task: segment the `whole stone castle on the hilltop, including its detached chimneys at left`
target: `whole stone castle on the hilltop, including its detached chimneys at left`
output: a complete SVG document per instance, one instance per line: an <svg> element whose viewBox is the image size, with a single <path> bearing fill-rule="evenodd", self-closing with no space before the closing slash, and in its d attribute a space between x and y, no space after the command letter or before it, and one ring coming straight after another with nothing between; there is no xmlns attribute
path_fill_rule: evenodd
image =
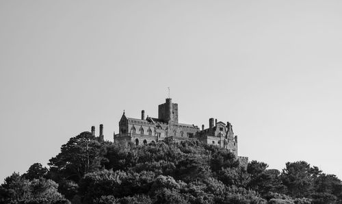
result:
<svg viewBox="0 0 342 204"><path fill-rule="evenodd" d="M119 122L119 133L114 133L114 142L133 142L140 145L160 140L196 140L228 149L239 158L242 166L248 164L248 157L239 157L237 154L237 136L233 133L231 123L218 122L217 119L214 122L213 118L209 118L209 128L205 129L205 125L202 125L200 129L195 125L179 123L178 118L178 104L172 103L170 98L158 106L158 118L145 117L144 110L140 119L128 118L123 113ZM98 139L103 140L101 133Z"/></svg>

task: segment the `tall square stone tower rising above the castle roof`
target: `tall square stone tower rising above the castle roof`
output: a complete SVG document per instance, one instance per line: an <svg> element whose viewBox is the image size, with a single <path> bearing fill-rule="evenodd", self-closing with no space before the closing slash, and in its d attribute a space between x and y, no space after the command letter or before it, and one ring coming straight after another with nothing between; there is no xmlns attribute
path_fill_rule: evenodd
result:
<svg viewBox="0 0 342 204"><path fill-rule="evenodd" d="M166 99L166 103L158 106L158 118L166 123L178 123L178 104Z"/></svg>

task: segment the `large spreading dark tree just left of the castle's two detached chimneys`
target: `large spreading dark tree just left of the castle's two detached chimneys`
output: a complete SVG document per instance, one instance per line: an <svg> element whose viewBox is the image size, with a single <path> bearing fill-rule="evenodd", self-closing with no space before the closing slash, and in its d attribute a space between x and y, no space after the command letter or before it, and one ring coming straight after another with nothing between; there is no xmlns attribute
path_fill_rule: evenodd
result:
<svg viewBox="0 0 342 204"><path fill-rule="evenodd" d="M85 131L63 144L61 152L49 160L49 166L60 172L62 178L78 182L86 173L101 168L104 155L105 148L92 133Z"/></svg>

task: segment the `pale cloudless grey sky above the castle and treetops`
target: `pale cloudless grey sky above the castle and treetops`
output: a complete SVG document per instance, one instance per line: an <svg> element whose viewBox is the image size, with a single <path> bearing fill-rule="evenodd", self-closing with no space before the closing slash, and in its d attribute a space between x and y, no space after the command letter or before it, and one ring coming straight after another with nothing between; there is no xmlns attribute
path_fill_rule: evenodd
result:
<svg viewBox="0 0 342 204"><path fill-rule="evenodd" d="M342 178L342 1L0 1L0 183L69 138L157 116L233 124L239 155Z"/></svg>

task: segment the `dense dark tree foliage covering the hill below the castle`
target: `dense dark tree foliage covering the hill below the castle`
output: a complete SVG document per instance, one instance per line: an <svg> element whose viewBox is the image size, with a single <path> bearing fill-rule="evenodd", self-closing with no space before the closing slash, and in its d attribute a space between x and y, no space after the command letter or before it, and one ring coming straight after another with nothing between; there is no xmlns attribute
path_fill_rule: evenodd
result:
<svg viewBox="0 0 342 204"><path fill-rule="evenodd" d="M144 146L70 138L50 168L0 186L0 203L342 203L342 183L306 162L279 170L200 142Z"/></svg>

